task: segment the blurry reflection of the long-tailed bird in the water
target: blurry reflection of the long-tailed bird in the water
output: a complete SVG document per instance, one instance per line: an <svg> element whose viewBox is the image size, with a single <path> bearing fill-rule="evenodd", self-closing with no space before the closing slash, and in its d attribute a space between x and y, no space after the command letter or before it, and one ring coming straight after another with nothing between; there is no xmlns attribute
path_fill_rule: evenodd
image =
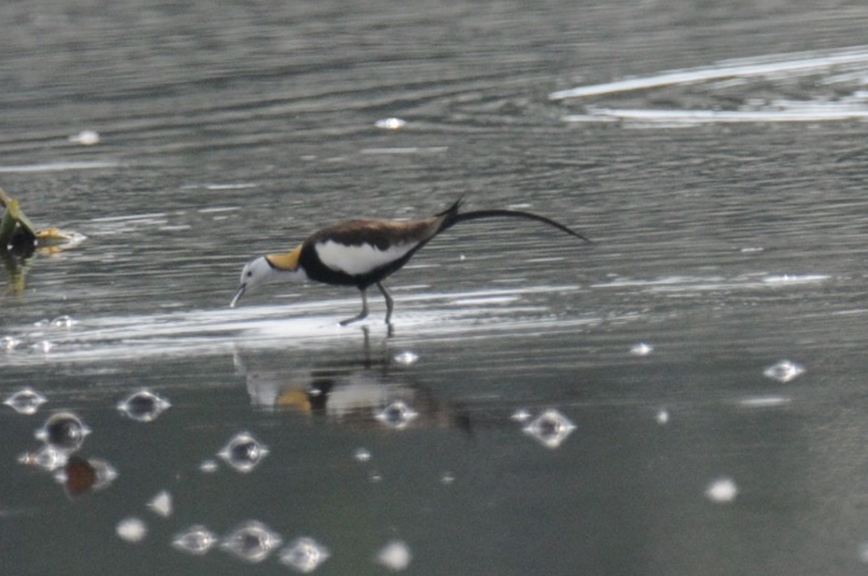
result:
<svg viewBox="0 0 868 576"><path fill-rule="evenodd" d="M254 406L291 409L329 422L391 429L454 427L470 429L464 409L437 398L412 381L404 363L384 344L373 357L365 330L360 355L282 366L285 357L236 351L235 365L247 381Z"/></svg>

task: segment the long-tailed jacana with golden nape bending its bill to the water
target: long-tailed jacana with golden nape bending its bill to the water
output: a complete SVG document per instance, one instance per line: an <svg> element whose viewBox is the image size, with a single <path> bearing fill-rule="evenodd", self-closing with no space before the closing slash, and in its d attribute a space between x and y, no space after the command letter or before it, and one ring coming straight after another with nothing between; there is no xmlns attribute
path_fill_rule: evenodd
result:
<svg viewBox="0 0 868 576"><path fill-rule="evenodd" d="M356 219L314 232L290 252L253 259L241 271L241 283L230 306L254 286L273 282L313 280L324 284L355 286L362 292L362 311L341 325L368 315L367 289L377 285L385 298L385 323L390 324L394 303L383 279L398 272L424 245L459 222L483 218L522 218L554 226L590 242L579 232L538 214L519 210L473 210L459 213L463 199L441 213L417 220Z"/></svg>

